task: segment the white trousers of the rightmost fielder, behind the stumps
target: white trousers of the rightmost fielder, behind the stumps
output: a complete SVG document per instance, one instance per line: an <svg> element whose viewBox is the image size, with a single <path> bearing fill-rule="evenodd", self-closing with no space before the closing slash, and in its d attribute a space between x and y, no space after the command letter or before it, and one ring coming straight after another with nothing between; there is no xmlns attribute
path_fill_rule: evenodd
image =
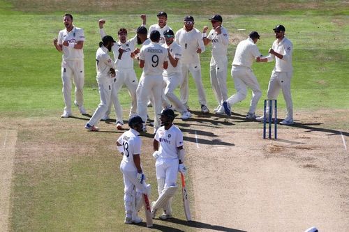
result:
<svg viewBox="0 0 349 232"><path fill-rule="evenodd" d="M283 91L283 99L286 102L286 121L293 120L293 104L291 98L292 74L292 72L276 72L273 70L267 91L268 99L277 99L280 90ZM269 102L267 102L267 115L269 115Z"/></svg>

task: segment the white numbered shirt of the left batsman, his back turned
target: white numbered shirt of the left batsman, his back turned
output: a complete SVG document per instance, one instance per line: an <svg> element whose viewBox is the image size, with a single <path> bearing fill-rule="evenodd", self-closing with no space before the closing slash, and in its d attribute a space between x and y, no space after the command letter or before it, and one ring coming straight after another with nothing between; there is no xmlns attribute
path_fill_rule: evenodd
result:
<svg viewBox="0 0 349 232"><path fill-rule="evenodd" d="M136 130L132 128L124 134L121 134L117 141L124 146L124 155L121 160L121 166L128 171L137 171L135 162L133 162L133 155L140 155L140 148L142 146L142 140L139 137Z"/></svg>

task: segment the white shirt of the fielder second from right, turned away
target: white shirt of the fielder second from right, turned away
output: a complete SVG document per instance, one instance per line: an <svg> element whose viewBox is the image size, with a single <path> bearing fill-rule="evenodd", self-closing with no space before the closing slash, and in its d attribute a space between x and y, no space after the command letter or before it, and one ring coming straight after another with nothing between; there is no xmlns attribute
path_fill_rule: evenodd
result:
<svg viewBox="0 0 349 232"><path fill-rule="evenodd" d="M246 40L239 42L237 45L232 65L251 68L255 61L255 57L257 56L262 56L257 45L255 45L251 38L247 38Z"/></svg>

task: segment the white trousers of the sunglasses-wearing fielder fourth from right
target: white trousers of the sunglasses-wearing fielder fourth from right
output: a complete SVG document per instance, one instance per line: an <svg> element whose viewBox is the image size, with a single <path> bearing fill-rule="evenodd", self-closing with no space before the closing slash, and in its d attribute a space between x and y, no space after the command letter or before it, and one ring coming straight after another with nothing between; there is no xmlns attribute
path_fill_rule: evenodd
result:
<svg viewBox="0 0 349 232"><path fill-rule="evenodd" d="M189 98L189 72L191 72L191 75L193 76L195 80L196 88L198 89L198 95L199 95L199 103L200 105L207 105L206 102L206 95L205 95L205 89L202 85L202 77L201 77L201 65L200 63L194 63L194 64L181 64L181 74L183 76L181 86L180 86L180 93L181 93L181 102L184 105L188 105L188 98Z"/></svg>

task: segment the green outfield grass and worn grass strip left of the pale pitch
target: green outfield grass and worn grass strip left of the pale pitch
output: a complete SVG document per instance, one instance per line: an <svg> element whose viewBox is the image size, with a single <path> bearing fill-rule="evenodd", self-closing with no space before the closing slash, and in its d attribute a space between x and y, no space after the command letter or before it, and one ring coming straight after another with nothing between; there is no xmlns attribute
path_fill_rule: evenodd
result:
<svg viewBox="0 0 349 232"><path fill-rule="evenodd" d="M86 121L67 120L64 127L59 116L64 108L61 95L61 54L53 38L64 29L62 15L70 12L76 26L82 27L84 43L87 111L92 113L99 102L96 84L95 52L100 41L98 19L107 20L105 31L116 36L126 27L129 37L140 24L140 13L148 14L147 26L156 23L159 10L168 12L168 24L180 29L186 14L195 17L195 26L209 25L214 13L223 15L223 25L230 32L228 55L232 62L239 40L252 30L261 39L262 54L272 45L276 24L283 24L286 36L294 45L292 79L294 111L349 109L349 4L345 1L268 1L242 4L240 1L127 1L124 7L112 1L87 5L84 1L3 1L0 0L0 119L18 128L15 170L11 192L10 231L140 231L144 227L124 225L123 183L119 171L121 157L114 141L119 133L83 131ZM101 3L110 4L107 10ZM69 8L66 8L69 6ZM147 9L144 10L143 9ZM154 10L149 10L154 9ZM246 29L240 31L238 29ZM209 108L216 100L209 84L210 47L202 54L202 79ZM230 66L230 65L229 65ZM255 63L253 70L266 98L267 84L274 63ZM230 67L228 67L228 74ZM140 76L141 70L135 64ZM199 109L193 79L190 82L190 106ZM228 75L228 93L235 93ZM129 97L125 88L119 95L124 109ZM245 114L248 98L234 111ZM285 109L279 96L279 111ZM258 112L262 111L262 101ZM77 113L77 111L75 111ZM295 118L297 120L297 118ZM22 121L24 121L22 123ZM342 125L348 130L349 125ZM345 128L343 128L345 127ZM54 130L52 130L54 128ZM57 149L50 149L58 147ZM35 150L34 148L38 148ZM65 149L66 148L66 149ZM144 144L144 165L156 192L151 147ZM190 180L188 180L191 186ZM155 194L156 196L156 194ZM174 210L184 219L177 194ZM195 215L195 212L193 212ZM155 222L158 231L193 231L185 222Z"/></svg>

